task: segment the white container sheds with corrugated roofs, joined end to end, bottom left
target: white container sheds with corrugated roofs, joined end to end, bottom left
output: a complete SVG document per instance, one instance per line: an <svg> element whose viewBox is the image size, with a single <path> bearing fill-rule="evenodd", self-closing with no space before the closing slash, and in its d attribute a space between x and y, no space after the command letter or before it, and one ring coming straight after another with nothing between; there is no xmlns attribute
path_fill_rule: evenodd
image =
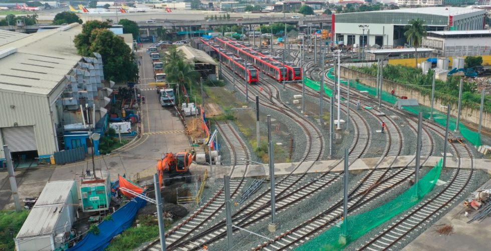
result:
<svg viewBox="0 0 491 251"><path fill-rule="evenodd" d="M77 182L48 182L15 238L16 250L66 248L79 204Z"/></svg>

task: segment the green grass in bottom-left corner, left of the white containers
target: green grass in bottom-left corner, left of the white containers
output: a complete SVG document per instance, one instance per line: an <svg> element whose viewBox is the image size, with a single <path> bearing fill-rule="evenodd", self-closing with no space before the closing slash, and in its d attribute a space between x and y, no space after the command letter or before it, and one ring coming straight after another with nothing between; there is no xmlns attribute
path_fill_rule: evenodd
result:
<svg viewBox="0 0 491 251"><path fill-rule="evenodd" d="M14 250L14 238L26 221L28 210L15 212L10 210L0 211L0 250Z"/></svg>

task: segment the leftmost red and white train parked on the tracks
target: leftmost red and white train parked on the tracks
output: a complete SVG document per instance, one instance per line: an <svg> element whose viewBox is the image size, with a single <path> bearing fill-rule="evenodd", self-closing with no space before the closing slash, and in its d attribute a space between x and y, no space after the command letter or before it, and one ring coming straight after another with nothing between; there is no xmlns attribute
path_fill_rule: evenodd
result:
<svg viewBox="0 0 491 251"><path fill-rule="evenodd" d="M243 79L246 79L248 83L257 83L259 81L258 69L253 67L251 63L248 63L246 65L242 58L234 57L233 53L227 52L224 49L221 49L219 46L216 46L212 42L203 38L199 38L199 40L201 40L201 42L216 51L216 53L219 55L219 58L221 57L221 62L223 62L233 72L235 72L235 74L238 74Z"/></svg>

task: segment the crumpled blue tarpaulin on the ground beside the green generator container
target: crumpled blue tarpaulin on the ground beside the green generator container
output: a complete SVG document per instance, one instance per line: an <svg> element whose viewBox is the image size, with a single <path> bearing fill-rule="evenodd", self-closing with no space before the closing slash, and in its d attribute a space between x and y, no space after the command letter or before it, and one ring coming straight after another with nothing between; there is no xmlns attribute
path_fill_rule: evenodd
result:
<svg viewBox="0 0 491 251"><path fill-rule="evenodd" d="M69 251L103 251L111 239L131 226L138 209L146 205L146 201L136 197L112 214L112 219L103 220L99 224L99 235L87 233L85 237L75 244Z"/></svg>

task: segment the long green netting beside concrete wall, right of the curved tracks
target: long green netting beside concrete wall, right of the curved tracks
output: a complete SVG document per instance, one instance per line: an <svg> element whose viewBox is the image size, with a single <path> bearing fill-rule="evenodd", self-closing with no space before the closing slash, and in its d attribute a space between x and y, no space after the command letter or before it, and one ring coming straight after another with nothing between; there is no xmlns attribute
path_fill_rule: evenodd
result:
<svg viewBox="0 0 491 251"><path fill-rule="evenodd" d="M327 76L333 80L337 80L335 76L333 75L333 69L329 70L327 73ZM377 95L377 89L374 87L367 86L365 84L362 84L358 81L355 80L341 80L342 84L350 84L351 87L354 87L360 91L368 91L368 94L376 96ZM319 87L317 87L319 89ZM394 96L390 94L389 92L382 91L382 100L395 104L397 102L397 96ZM418 105L418 106L403 106L402 108L413 112L414 114L418 114L420 111L423 112L423 117L429 118L430 115L430 108L424 105ZM446 125L446 114L441 113L439 111L436 111L433 109L433 117L435 118L435 122L439 123L442 126ZM451 130L454 130L456 127L457 119L453 118L450 116L450 125L449 128ZM459 130L462 136L467 139L470 143L472 143L475 146L481 145L481 138L479 133L476 131L472 131L469 128L467 128L464 124L459 122Z"/></svg>

